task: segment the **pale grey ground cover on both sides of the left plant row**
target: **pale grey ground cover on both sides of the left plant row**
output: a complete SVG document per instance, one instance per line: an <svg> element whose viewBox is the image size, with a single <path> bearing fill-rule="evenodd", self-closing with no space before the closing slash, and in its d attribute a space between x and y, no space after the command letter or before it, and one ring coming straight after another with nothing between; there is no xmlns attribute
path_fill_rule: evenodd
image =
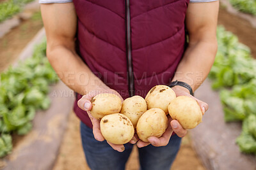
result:
<svg viewBox="0 0 256 170"><path fill-rule="evenodd" d="M25 60L31 56L35 45L41 43L44 36L45 32L42 29L28 43L18 60ZM19 67L18 62L13 66ZM50 91L48 96L51 99L51 107L36 112L33 129L26 136L21 138L14 135L14 148L10 155L1 159L1 169L51 169L54 165L74 95L62 82L52 85Z"/></svg>

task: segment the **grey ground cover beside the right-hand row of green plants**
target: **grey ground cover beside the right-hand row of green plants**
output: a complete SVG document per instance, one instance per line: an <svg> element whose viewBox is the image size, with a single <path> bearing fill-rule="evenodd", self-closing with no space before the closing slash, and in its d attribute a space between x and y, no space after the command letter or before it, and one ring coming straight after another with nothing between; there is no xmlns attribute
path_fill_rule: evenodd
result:
<svg viewBox="0 0 256 170"><path fill-rule="evenodd" d="M241 123L225 123L218 92L205 81L195 97L209 104L203 122L190 131L193 145L205 167L210 170L256 169L254 155L241 153L236 138L241 134Z"/></svg>

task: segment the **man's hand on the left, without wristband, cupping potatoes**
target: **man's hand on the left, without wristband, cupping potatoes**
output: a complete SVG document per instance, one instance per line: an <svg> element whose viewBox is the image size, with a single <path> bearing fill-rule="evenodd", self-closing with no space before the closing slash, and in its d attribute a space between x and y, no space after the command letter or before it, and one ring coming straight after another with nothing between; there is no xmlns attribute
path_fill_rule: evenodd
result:
<svg viewBox="0 0 256 170"><path fill-rule="evenodd" d="M92 113L90 113L90 110L92 110L92 103L91 103L91 99L92 97L96 96L97 94L102 94L102 93L110 93L110 94L116 94L118 97L120 97L120 99L122 101L124 101L124 99L120 96L120 94L118 94L118 92L116 92L113 89L97 89L97 90L92 90L90 91L88 94L84 95L78 102L78 106L79 108L81 108L84 111L87 111L89 118L92 121L92 125L93 125L93 135L94 138L97 141L104 141L104 137L102 136L101 132L100 132L100 120L97 120L96 118L92 117ZM130 141L130 143L134 144L136 143L137 139L136 137L133 137ZM114 149L117 150L118 152L123 152L124 151L124 145L115 145L113 143L108 142L108 144Z"/></svg>

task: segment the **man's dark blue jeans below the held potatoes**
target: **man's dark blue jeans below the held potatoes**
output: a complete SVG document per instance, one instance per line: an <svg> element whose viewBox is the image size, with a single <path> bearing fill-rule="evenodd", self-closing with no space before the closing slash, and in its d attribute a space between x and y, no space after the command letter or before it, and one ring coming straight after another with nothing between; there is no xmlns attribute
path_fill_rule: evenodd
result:
<svg viewBox="0 0 256 170"><path fill-rule="evenodd" d="M106 141L97 141L92 129L81 122L81 138L88 166L92 170L123 170L132 151L132 144L125 144L124 152L117 152ZM138 148L141 170L170 170L175 159L180 141L177 135L172 136L167 146L152 145Z"/></svg>

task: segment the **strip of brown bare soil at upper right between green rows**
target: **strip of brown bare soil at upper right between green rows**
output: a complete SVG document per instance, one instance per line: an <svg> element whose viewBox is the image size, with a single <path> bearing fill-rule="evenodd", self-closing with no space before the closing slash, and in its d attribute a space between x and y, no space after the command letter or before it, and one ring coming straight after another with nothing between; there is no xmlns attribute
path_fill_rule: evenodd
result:
<svg viewBox="0 0 256 170"><path fill-rule="evenodd" d="M218 25L224 25L228 31L236 34L241 43L251 48L252 55L256 59L256 29L253 29L250 22L228 13L221 7Z"/></svg>

